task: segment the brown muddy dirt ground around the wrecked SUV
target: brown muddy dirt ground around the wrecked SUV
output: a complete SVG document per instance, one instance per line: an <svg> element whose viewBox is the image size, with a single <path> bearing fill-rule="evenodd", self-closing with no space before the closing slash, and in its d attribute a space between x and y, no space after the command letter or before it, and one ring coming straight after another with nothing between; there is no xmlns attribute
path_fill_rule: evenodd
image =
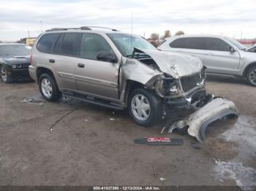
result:
<svg viewBox="0 0 256 191"><path fill-rule="evenodd" d="M208 78L208 92L230 98L241 116L213 125L201 149L178 133L165 136L182 146L135 145L162 126L141 128L126 112L80 101L46 102L34 82L1 82L0 185L255 185L256 88L240 81Z"/></svg>

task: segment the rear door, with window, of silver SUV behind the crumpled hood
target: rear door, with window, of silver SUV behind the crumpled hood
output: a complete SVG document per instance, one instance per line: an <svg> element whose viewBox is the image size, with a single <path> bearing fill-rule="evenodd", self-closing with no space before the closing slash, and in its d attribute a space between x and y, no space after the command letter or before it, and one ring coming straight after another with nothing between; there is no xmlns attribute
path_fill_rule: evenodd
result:
<svg viewBox="0 0 256 191"><path fill-rule="evenodd" d="M205 62L206 43L203 37L185 37L170 42L170 47L174 52L192 55Z"/></svg>

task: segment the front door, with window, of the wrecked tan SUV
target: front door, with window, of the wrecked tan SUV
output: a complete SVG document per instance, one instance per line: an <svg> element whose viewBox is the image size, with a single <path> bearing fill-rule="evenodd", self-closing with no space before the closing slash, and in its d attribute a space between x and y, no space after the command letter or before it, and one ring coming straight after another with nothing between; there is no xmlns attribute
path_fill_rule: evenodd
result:
<svg viewBox="0 0 256 191"><path fill-rule="evenodd" d="M82 93L118 99L119 63L97 61L101 51L113 52L99 34L84 33L80 40L80 58L75 63L75 82Z"/></svg>

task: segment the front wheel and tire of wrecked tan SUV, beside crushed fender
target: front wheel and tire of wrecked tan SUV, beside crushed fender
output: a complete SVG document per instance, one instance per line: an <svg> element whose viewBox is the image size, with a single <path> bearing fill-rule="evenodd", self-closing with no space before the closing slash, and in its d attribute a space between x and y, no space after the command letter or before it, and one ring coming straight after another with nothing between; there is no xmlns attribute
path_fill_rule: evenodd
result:
<svg viewBox="0 0 256 191"><path fill-rule="evenodd" d="M162 116L162 101L155 93L138 88L128 98L129 115L138 125L149 127Z"/></svg>

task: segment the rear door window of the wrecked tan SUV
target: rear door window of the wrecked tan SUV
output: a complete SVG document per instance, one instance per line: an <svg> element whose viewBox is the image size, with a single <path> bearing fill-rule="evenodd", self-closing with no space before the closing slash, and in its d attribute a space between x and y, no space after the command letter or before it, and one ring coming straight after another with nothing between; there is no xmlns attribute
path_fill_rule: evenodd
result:
<svg viewBox="0 0 256 191"><path fill-rule="evenodd" d="M61 45L61 54L63 55L78 55L76 41L77 33L66 33Z"/></svg>

